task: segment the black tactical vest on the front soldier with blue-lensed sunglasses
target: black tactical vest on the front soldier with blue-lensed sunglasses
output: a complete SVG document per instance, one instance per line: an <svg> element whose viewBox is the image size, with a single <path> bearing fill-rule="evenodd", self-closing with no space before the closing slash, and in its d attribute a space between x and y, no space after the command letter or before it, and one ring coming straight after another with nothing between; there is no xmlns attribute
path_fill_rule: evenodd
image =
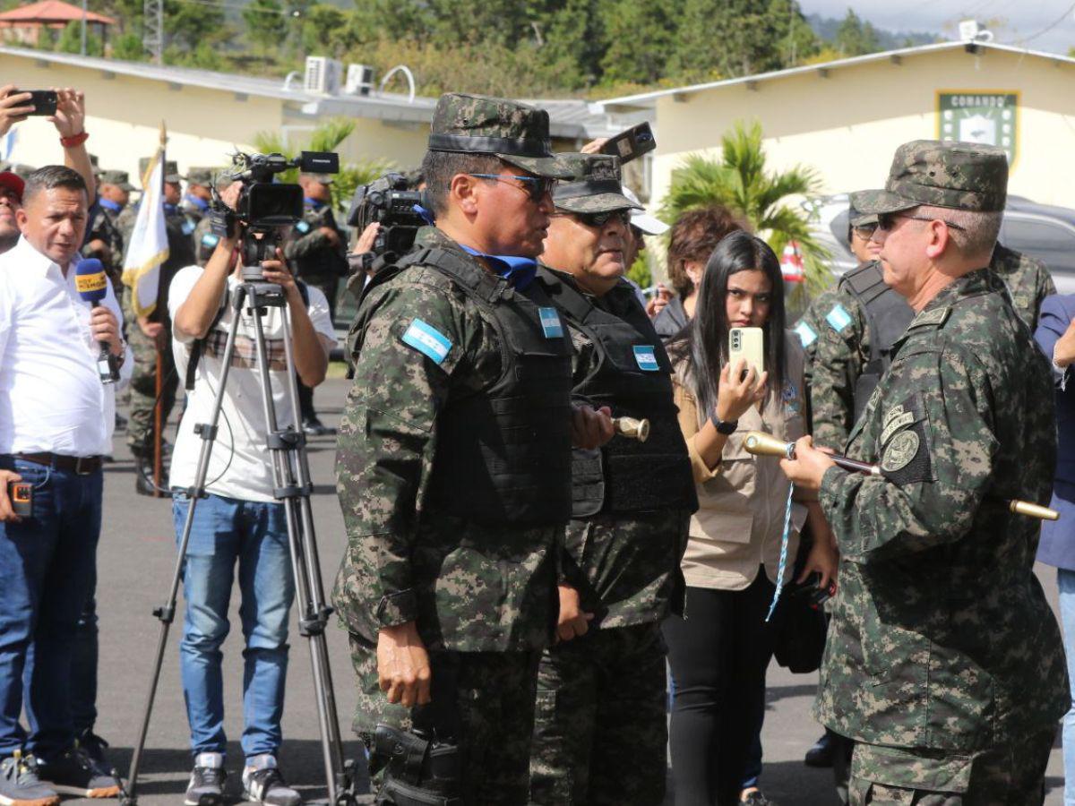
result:
<svg viewBox="0 0 1075 806"><path fill-rule="evenodd" d="M439 247L419 247L382 270L363 299L419 264L450 277L477 305L500 336L502 356L501 376L491 388L454 389L441 409L424 504L486 524L565 523L571 518L572 349L553 302L536 283L515 290L469 257Z"/></svg>

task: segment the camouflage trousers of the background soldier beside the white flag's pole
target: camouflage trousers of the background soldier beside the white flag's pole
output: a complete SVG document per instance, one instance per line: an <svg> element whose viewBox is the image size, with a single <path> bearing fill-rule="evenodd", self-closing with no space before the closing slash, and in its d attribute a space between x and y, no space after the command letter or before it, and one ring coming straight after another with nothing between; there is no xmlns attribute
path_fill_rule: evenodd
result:
<svg viewBox="0 0 1075 806"><path fill-rule="evenodd" d="M153 340L142 332L134 318L134 312L127 303L130 293L124 294L124 320L127 326L127 345L134 358L134 370L131 373L130 399L131 409L127 423L127 446L135 457L153 458L153 440L155 417L154 405L157 402L157 348ZM171 322L166 322L171 328ZM167 424L168 417L175 406L175 394L180 380L175 376L175 359L171 347L161 352L161 373L164 382L160 398L160 421Z"/></svg>

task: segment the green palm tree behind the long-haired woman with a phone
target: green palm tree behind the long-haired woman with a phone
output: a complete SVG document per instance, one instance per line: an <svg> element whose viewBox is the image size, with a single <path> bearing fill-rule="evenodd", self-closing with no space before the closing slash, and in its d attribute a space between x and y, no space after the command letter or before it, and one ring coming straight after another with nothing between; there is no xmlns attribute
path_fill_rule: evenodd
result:
<svg viewBox="0 0 1075 806"><path fill-rule="evenodd" d="M777 255L794 241L806 269L806 285L814 290L828 284L827 261L832 256L811 234L807 214L786 200L817 193L819 189L820 181L811 168L766 171L761 125L737 123L721 138L719 160L692 154L672 171L672 185L660 216L672 224L684 211L722 204L749 221Z"/></svg>

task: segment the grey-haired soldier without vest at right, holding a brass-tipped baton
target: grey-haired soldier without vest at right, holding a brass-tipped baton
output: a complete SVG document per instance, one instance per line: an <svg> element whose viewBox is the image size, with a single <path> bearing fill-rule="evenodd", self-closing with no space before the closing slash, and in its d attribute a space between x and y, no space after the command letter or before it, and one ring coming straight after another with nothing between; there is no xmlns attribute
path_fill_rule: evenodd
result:
<svg viewBox="0 0 1075 806"><path fill-rule="evenodd" d="M852 804L1041 804L1071 702L1040 524L1006 504L1048 501L1056 459L1048 362L988 268L1006 183L1000 148L914 141L856 200L915 311L847 444L882 475L806 438L782 462L841 552L815 713L858 743Z"/></svg>

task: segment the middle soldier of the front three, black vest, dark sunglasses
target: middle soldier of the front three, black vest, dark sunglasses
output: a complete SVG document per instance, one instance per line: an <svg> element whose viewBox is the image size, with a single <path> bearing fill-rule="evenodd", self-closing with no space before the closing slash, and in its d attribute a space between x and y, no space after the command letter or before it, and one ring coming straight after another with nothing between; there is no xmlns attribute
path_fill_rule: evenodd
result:
<svg viewBox="0 0 1075 806"><path fill-rule="evenodd" d="M543 256L562 271L543 265L539 278L575 347L574 394L615 416L647 418L650 433L644 443L617 436L601 450L575 450L560 643L539 668L530 798L657 806L668 767L660 622L683 611L679 562L698 500L671 363L624 279L630 212L640 207L622 195L615 157L562 159L573 175L554 191Z"/></svg>

